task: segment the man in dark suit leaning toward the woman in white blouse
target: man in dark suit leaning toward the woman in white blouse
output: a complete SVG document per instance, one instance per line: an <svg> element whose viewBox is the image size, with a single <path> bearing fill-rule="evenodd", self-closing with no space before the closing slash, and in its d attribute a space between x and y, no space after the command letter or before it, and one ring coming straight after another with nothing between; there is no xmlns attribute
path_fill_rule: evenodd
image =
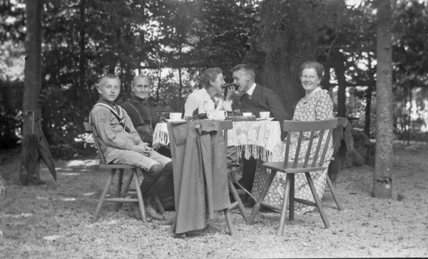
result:
<svg viewBox="0 0 428 259"><path fill-rule="evenodd" d="M240 64L232 69L233 83L239 86L238 92L244 93L239 100L242 112L253 112L255 117L260 118L260 112L270 112L270 117L277 121L290 120L280 100L272 90L255 83L254 69L250 65ZM244 159L243 177L238 181L245 189L253 189L256 162L254 157Z"/></svg>

